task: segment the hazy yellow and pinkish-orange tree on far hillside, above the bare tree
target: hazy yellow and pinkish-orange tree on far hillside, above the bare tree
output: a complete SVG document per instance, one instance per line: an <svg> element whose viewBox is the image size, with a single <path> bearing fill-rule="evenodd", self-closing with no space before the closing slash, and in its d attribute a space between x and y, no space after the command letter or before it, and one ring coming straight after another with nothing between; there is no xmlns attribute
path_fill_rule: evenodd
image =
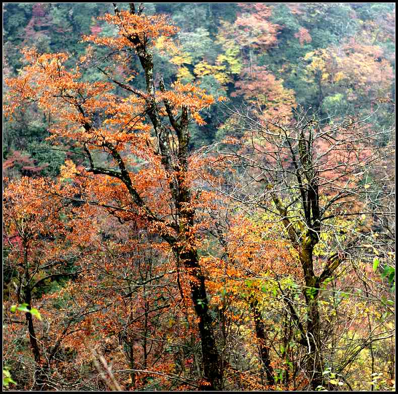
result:
<svg viewBox="0 0 398 394"><path fill-rule="evenodd" d="M339 48L308 52L304 59L311 61L307 81L318 86L318 108L325 113L371 110L376 99L389 96L392 68L379 46L351 39Z"/></svg>

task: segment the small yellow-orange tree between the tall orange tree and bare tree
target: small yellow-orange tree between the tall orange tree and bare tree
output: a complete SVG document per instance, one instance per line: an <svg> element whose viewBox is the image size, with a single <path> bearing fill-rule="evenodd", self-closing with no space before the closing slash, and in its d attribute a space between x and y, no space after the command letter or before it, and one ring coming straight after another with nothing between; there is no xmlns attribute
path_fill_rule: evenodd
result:
<svg viewBox="0 0 398 394"><path fill-rule="evenodd" d="M251 316L249 318L245 316L243 319L252 320L254 323L256 343L252 346L256 345L258 348L261 373L260 382L252 380L247 388L269 389L275 387L274 384L278 379L274 367L281 367L283 364L281 360L284 357L283 354L279 355L279 362L274 361L271 357L271 349L275 348L277 335L272 343L270 339L271 324L261 312L263 306L271 304L272 300L267 294L269 286L261 283L258 278L278 277L288 269L292 270L293 259L289 255L286 242L280 240L277 234L274 234L273 240L264 242L264 233L269 230L267 224L263 227L258 222L251 222L244 215L235 215L230 220L227 218L222 220L217 214L215 216L217 221L213 234L222 247L222 253L221 257L212 256L209 260L214 264L210 276L218 284L218 291L222 294L219 310L223 315L232 312L230 317L232 321L243 318L244 312L241 313L241 310L248 309L250 311ZM223 265L224 268L221 268ZM245 278L246 280L244 280ZM275 288L273 291L275 292ZM236 313L236 305L242 301L244 306L237 309L238 313ZM228 310L228 304L232 306L231 310ZM275 303L273 303L273 307L275 307ZM222 316L222 320L225 325L225 316ZM246 389L246 387L244 388Z"/></svg>

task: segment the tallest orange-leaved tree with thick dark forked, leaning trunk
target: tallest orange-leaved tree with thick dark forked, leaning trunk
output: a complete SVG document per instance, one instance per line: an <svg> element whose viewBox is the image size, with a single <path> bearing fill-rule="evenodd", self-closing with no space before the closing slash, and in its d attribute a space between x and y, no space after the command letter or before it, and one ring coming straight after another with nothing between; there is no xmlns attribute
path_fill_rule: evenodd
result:
<svg viewBox="0 0 398 394"><path fill-rule="evenodd" d="M95 177L87 179L81 195L92 191L96 200L90 203L105 205L122 221L149 226L169 245L177 267L190 275L190 298L202 340L203 387L217 389L222 376L197 255L188 155L189 124L203 124L200 111L214 99L192 84L177 82L167 90L156 73L151 48L160 37L177 31L165 17L145 16L142 8L130 4L129 11L115 6L114 15L103 19L115 27L117 36L92 35L84 40L110 49L113 65L126 66L137 56L145 75L144 90L118 80L115 67L98 65L104 81L87 83L81 80L80 66L67 70L68 54L25 50L29 64L19 77L7 80L7 113L37 102L56 119L50 129L53 138L71 139L85 152L87 173ZM85 60L92 61L81 59ZM114 93L116 88L123 96ZM106 154L109 164L97 164L99 152ZM151 197L155 191L161 193L156 200Z"/></svg>

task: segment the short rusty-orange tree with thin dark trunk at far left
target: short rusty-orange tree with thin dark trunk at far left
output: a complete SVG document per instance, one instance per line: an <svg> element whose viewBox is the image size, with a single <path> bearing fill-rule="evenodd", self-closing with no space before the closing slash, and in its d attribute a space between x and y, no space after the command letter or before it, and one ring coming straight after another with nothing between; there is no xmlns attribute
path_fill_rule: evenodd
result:
<svg viewBox="0 0 398 394"><path fill-rule="evenodd" d="M56 339L47 342L46 335L41 332L43 326L35 325L33 312L37 312L37 308L33 307L34 302L42 302L37 301L40 298L38 295L49 282L68 281L79 274L79 270L70 266L73 251L65 242L71 225L71 222L65 220L70 203L44 192L43 188L48 187L48 184L51 181L43 178L23 177L12 182L8 182L6 178L3 196L5 273L9 285L6 305L12 301L26 305L26 324L13 319L8 313L5 322L11 326L11 331L13 325L27 326L34 357L34 385L40 390L45 389L50 364L62 340L70 334L74 319L64 315L59 319L60 311L56 311L58 319L52 319L53 326L56 326L55 322L58 320L65 327L58 326L59 332L54 329ZM55 189L56 185L52 187ZM15 292L11 290L12 284ZM48 314L51 314L50 310L43 312L45 318Z"/></svg>

